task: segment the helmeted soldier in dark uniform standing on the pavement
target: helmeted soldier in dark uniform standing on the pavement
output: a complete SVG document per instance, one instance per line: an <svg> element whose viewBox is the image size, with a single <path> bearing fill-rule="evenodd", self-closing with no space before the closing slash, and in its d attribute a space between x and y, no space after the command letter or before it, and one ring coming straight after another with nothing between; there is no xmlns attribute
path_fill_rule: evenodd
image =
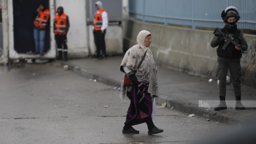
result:
<svg viewBox="0 0 256 144"><path fill-rule="evenodd" d="M222 47L226 43L226 40L223 39L223 35L215 34L215 37L211 41L211 46L217 48L218 55L218 66L217 66L217 77L219 79L219 98L221 103L214 108L215 111L222 109L227 109L226 107L226 75L228 69L230 71L232 84L234 87L234 96L236 96L236 109L245 109L244 105L241 103L241 65L240 58L242 57L242 51L247 50L247 42L245 41L244 34L240 29L237 28L236 23L240 19L238 9L236 7L227 7L223 10L221 17L223 18L224 23L226 24L221 31L223 33L232 34L234 41L238 43L240 48L232 45L230 43L226 46L226 49L223 50Z"/></svg>

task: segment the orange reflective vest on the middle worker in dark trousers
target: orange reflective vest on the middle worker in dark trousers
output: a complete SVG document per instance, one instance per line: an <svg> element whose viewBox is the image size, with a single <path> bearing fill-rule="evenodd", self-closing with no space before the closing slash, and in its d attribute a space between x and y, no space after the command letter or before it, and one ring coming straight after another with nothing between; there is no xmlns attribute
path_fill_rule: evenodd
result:
<svg viewBox="0 0 256 144"><path fill-rule="evenodd" d="M54 35L66 35L66 21L67 15L64 13L61 15L56 14L54 16Z"/></svg>

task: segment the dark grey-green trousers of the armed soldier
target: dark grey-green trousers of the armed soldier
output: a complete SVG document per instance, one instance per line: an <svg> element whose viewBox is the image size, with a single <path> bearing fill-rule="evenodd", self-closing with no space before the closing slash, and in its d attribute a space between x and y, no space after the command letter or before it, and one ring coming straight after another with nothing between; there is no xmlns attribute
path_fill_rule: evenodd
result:
<svg viewBox="0 0 256 144"><path fill-rule="evenodd" d="M234 96L241 96L241 65L240 62L218 62L217 77L219 78L219 96L226 96L226 75L228 69L234 87Z"/></svg>

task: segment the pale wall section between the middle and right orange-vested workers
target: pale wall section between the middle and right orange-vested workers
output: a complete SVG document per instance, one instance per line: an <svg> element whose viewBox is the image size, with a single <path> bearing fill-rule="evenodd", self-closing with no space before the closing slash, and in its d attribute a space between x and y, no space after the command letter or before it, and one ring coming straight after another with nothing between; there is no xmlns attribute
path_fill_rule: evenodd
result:
<svg viewBox="0 0 256 144"><path fill-rule="evenodd" d="M86 26L85 0L55 0L56 10L64 8L64 13L70 20L68 31L69 58L83 58L89 55L88 28Z"/></svg>

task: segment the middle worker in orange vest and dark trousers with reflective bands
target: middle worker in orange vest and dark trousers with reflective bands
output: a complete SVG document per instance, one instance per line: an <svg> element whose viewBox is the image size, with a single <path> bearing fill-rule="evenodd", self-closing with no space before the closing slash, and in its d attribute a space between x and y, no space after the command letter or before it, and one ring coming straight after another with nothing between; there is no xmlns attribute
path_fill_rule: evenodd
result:
<svg viewBox="0 0 256 144"><path fill-rule="evenodd" d="M58 14L54 16L54 35L56 44L58 47L58 60L62 60L62 52L63 52L63 60L68 60L68 46L67 46L67 33L70 27L70 21L68 20L68 16L64 14L63 7L58 7ZM63 48L62 48L63 45Z"/></svg>

